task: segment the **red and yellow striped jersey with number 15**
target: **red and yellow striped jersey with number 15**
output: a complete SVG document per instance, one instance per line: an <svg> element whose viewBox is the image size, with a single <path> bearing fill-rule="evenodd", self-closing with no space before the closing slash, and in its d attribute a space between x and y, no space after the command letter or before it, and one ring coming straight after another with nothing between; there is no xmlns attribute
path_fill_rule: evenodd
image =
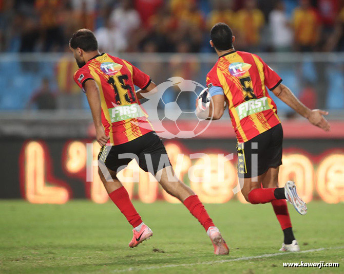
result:
<svg viewBox="0 0 344 274"><path fill-rule="evenodd" d="M89 79L99 87L102 124L109 143L126 143L153 131L134 87L145 89L151 81L148 75L125 60L102 53L74 74L81 88Z"/></svg>

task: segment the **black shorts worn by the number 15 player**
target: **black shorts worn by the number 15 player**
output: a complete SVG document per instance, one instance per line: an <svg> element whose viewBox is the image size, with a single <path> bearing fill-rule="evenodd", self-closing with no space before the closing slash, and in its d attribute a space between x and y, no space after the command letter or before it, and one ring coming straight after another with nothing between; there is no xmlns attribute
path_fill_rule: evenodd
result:
<svg viewBox="0 0 344 274"><path fill-rule="evenodd" d="M104 145L98 155L98 160L103 160L105 166L113 171L124 169L133 158L141 169L154 175L158 170L171 166L164 143L154 131L123 144Z"/></svg>

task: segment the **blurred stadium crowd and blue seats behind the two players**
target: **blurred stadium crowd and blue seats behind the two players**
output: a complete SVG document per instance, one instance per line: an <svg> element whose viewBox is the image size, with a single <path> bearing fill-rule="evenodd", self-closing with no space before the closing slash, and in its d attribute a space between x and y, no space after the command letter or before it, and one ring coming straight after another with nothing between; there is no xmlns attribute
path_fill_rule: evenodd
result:
<svg viewBox="0 0 344 274"><path fill-rule="evenodd" d="M79 28L156 83L179 76L204 84L215 54L183 53L214 52L217 22L232 27L237 50L266 52L307 106L344 108L344 0L0 0L0 111L88 109L68 48ZM194 108L194 100L185 104Z"/></svg>

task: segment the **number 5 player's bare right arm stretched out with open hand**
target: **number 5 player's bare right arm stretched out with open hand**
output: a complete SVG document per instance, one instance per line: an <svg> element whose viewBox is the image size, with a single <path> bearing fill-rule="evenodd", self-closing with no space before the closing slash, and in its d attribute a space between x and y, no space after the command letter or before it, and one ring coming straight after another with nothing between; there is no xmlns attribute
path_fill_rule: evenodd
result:
<svg viewBox="0 0 344 274"><path fill-rule="evenodd" d="M291 108L294 109L298 114L307 118L310 123L320 127L320 129L324 131L330 131L330 124L329 122L323 117L323 115L328 115L329 113L326 111L322 111L321 109L310 109L304 104L300 102L299 99L292 93L292 91L283 84L277 86L273 93L281 99L284 103L289 105Z"/></svg>

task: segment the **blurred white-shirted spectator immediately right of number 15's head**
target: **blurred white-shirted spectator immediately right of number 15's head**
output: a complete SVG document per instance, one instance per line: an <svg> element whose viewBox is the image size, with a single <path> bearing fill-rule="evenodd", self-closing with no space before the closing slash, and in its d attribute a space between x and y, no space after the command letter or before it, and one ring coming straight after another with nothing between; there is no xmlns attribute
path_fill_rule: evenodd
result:
<svg viewBox="0 0 344 274"><path fill-rule="evenodd" d="M101 52L117 54L127 48L127 40L123 32L110 19L107 19L105 26L96 30L94 34Z"/></svg>

